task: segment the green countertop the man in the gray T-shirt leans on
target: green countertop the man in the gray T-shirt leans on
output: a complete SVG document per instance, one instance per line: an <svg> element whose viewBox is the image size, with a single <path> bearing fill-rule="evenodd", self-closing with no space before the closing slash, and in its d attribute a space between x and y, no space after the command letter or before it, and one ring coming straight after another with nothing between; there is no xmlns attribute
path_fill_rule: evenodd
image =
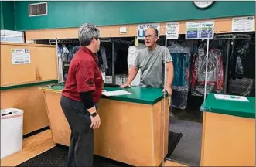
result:
<svg viewBox="0 0 256 167"><path fill-rule="evenodd" d="M51 86L51 87L41 87L42 90L52 90L55 92L61 92L63 90L63 86ZM119 87L104 87L104 90L113 91L113 90L121 90ZM105 97L101 98L111 99L115 101L128 101L139 104L155 104L158 101L163 99L162 89L148 88L148 87L131 87L125 88L124 90L131 92L128 95L122 96L113 96L113 97Z"/></svg>

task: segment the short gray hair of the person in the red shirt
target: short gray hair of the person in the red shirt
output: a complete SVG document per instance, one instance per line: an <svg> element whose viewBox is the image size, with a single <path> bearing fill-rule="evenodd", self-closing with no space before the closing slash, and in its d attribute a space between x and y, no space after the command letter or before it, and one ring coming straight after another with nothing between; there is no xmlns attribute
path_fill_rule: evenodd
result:
<svg viewBox="0 0 256 167"><path fill-rule="evenodd" d="M100 31L91 23L85 23L80 26L78 30L78 39L80 42L80 46L88 46L91 43L92 39L99 39Z"/></svg>

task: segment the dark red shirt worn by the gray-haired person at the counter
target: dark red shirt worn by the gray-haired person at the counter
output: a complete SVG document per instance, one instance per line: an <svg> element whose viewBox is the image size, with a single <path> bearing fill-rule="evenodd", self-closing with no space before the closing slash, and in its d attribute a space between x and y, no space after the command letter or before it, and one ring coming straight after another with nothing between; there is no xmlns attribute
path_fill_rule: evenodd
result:
<svg viewBox="0 0 256 167"><path fill-rule="evenodd" d="M70 62L62 95L74 101L82 101L80 92L94 91L93 101L97 103L101 97L103 84L97 62L97 56L87 47L81 46Z"/></svg>

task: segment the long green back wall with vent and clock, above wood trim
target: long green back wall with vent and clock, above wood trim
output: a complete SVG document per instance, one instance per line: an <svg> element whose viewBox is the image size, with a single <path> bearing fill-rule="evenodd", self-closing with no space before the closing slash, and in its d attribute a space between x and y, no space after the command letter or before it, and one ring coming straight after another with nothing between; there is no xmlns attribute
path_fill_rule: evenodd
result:
<svg viewBox="0 0 256 167"><path fill-rule="evenodd" d="M193 2L48 2L48 15L29 17L28 5L15 2L17 30L77 27L84 22L97 26L211 19L255 15L255 2L215 2L197 9Z"/></svg>

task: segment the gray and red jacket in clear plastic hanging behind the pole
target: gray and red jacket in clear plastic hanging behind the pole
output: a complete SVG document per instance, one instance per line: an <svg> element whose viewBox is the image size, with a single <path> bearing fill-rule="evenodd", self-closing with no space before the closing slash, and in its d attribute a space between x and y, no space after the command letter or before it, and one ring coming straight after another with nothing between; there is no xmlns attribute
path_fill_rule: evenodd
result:
<svg viewBox="0 0 256 167"><path fill-rule="evenodd" d="M193 96L203 96L207 55L199 49L194 55L191 81ZM223 57L219 49L210 49L207 70L207 94L210 92L221 93L224 89Z"/></svg>

